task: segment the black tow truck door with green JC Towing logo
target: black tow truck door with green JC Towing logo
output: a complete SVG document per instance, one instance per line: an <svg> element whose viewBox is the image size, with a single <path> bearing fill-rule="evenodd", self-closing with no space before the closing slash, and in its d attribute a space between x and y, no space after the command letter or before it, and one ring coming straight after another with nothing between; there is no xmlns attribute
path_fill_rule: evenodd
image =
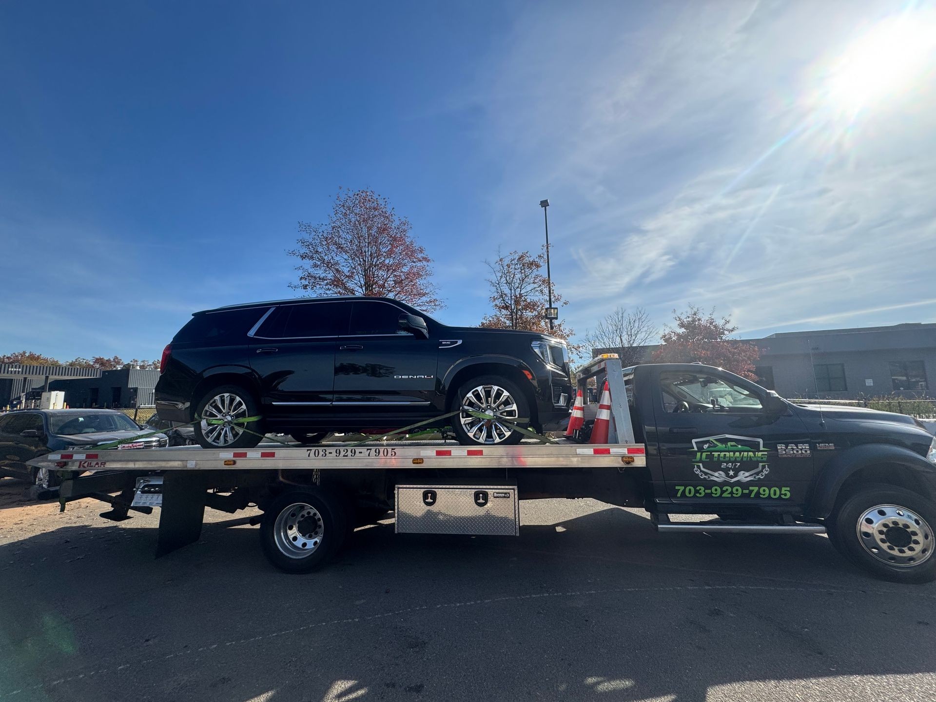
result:
<svg viewBox="0 0 936 702"><path fill-rule="evenodd" d="M661 369L654 415L675 503L803 505L812 480L806 425L733 373Z"/></svg>

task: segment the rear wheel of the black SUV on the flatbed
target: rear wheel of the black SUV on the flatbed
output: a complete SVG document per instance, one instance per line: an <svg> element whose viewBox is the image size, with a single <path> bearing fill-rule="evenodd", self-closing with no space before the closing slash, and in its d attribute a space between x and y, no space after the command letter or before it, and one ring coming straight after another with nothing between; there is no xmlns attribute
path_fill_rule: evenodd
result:
<svg viewBox="0 0 936 702"><path fill-rule="evenodd" d="M198 402L195 438L202 448L253 448L262 440L260 420L238 423L238 419L256 417L259 407L245 389L225 385L212 389ZM226 420L224 424L210 424L209 419ZM249 431L245 431L249 430ZM256 433L252 433L256 432Z"/></svg>

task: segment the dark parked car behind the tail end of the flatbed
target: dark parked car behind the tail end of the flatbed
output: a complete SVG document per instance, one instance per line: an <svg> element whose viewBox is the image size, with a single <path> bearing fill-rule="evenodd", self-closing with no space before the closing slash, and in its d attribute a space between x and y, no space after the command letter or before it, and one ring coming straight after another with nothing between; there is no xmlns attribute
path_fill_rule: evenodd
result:
<svg viewBox="0 0 936 702"><path fill-rule="evenodd" d="M29 480L45 488L58 484L47 469L26 465L37 456L66 448L132 439L147 433L133 419L109 409L15 410L0 415L0 475ZM165 434L155 434L133 448L168 446Z"/></svg>

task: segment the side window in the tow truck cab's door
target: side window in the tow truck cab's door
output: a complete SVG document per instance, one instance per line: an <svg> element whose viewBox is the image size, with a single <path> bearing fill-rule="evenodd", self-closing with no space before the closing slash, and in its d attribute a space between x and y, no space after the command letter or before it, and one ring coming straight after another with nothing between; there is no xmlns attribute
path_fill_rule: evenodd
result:
<svg viewBox="0 0 936 702"><path fill-rule="evenodd" d="M753 414L763 409L752 391L709 373L660 373L660 391L666 412Z"/></svg>

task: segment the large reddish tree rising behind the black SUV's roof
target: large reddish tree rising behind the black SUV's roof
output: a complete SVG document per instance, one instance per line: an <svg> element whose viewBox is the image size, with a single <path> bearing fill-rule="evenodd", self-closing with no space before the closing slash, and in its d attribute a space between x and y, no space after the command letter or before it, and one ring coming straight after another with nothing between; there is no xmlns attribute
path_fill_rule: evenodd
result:
<svg viewBox="0 0 936 702"><path fill-rule="evenodd" d="M431 283L432 259L410 236L409 220L373 190L340 189L320 224L300 222L302 261L294 290L313 295L394 298L431 312L443 306Z"/></svg>

